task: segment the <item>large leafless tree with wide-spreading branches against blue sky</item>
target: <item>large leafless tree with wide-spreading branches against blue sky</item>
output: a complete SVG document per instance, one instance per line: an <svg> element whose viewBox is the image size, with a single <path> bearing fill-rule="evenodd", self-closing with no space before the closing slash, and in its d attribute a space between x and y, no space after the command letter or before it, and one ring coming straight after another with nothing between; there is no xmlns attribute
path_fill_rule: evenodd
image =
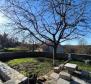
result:
<svg viewBox="0 0 91 84"><path fill-rule="evenodd" d="M88 0L5 1L1 12L10 18L14 28L53 47L53 64L60 43L83 36L90 29Z"/></svg>

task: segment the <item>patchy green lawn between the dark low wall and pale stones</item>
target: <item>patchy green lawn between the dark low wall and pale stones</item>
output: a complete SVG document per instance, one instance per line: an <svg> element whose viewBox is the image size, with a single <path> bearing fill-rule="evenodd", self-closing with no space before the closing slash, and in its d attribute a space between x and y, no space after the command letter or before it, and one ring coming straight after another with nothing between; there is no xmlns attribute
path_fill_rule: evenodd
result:
<svg viewBox="0 0 91 84"><path fill-rule="evenodd" d="M55 60L57 65L63 63L63 60ZM38 73L38 76L44 75L53 69L52 59L50 58L20 58L6 62L9 66L21 72L25 76L29 74ZM82 70L91 71L91 65L86 65L83 62L70 61L75 63Z"/></svg>

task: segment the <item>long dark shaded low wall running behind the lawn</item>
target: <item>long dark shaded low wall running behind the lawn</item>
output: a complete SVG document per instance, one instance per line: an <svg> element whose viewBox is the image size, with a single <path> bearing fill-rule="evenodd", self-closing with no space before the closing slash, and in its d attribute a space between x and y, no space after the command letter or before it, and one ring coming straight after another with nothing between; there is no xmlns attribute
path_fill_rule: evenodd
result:
<svg viewBox="0 0 91 84"><path fill-rule="evenodd" d="M0 60L1 61L7 61L11 59L16 59L16 58L26 58L26 57L47 57L47 58L52 58L52 53L48 52L0 52ZM83 60L91 60L90 55L84 55L84 54L73 54L71 53L71 58L72 60L78 60L78 61L83 61ZM68 54L64 53L57 53L57 56L55 59L68 59Z"/></svg>

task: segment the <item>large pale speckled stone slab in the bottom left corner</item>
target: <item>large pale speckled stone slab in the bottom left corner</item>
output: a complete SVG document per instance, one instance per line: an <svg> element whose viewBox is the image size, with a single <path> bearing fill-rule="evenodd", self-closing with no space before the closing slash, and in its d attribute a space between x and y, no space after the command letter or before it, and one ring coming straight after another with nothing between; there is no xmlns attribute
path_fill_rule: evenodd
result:
<svg viewBox="0 0 91 84"><path fill-rule="evenodd" d="M19 84L27 80L27 77L3 62L0 62L0 75L5 79L3 84Z"/></svg>

